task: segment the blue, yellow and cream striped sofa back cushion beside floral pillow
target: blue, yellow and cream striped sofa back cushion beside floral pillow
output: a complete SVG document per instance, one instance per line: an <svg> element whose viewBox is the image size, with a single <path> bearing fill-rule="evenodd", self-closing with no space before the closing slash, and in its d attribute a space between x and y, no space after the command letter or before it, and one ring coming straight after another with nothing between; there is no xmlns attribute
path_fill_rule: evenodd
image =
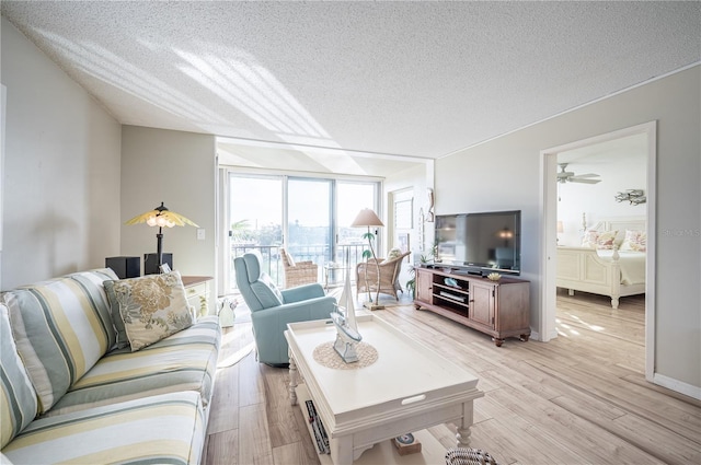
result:
<svg viewBox="0 0 701 465"><path fill-rule="evenodd" d="M95 305L95 292L87 286L90 279L79 274L3 294L41 414L114 346L106 298L101 295Z"/></svg>

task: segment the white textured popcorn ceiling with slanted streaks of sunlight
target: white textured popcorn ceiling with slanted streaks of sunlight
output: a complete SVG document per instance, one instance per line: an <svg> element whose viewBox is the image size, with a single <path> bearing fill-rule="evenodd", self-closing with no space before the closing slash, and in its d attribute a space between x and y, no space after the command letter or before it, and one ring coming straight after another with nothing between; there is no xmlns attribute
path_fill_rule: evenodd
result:
<svg viewBox="0 0 701 465"><path fill-rule="evenodd" d="M699 62L700 7L2 1L2 14L122 124L367 162L439 158ZM241 160L269 150L234 146Z"/></svg>

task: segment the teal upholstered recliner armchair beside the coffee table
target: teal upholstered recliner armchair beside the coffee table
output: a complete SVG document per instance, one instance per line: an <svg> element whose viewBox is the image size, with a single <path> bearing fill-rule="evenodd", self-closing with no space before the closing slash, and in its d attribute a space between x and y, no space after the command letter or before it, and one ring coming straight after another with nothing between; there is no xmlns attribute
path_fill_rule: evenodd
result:
<svg viewBox="0 0 701 465"><path fill-rule="evenodd" d="M258 361L271 365L289 363L284 335L287 324L330 318L336 299L326 295L319 283L279 290L253 253L234 258L233 269L241 297L251 310Z"/></svg>

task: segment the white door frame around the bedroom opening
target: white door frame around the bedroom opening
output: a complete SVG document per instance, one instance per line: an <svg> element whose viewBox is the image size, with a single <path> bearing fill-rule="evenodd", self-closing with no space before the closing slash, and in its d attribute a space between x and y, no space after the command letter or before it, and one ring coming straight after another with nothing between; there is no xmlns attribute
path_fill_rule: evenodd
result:
<svg viewBox="0 0 701 465"><path fill-rule="evenodd" d="M657 121L653 120L605 135L553 147L540 152L541 161L541 311L539 334L542 341L558 337L555 327L556 286L556 221L558 221L558 154L595 143L645 135L647 138L647 255L645 278L645 379L654 381L655 375L655 225L657 199Z"/></svg>

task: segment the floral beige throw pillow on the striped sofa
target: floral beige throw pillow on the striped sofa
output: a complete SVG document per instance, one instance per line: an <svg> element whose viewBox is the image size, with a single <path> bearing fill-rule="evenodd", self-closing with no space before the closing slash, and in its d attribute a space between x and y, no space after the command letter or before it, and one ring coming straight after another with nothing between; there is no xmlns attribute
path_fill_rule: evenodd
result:
<svg viewBox="0 0 701 465"><path fill-rule="evenodd" d="M179 271L122 279L113 289L133 352L193 324Z"/></svg>

